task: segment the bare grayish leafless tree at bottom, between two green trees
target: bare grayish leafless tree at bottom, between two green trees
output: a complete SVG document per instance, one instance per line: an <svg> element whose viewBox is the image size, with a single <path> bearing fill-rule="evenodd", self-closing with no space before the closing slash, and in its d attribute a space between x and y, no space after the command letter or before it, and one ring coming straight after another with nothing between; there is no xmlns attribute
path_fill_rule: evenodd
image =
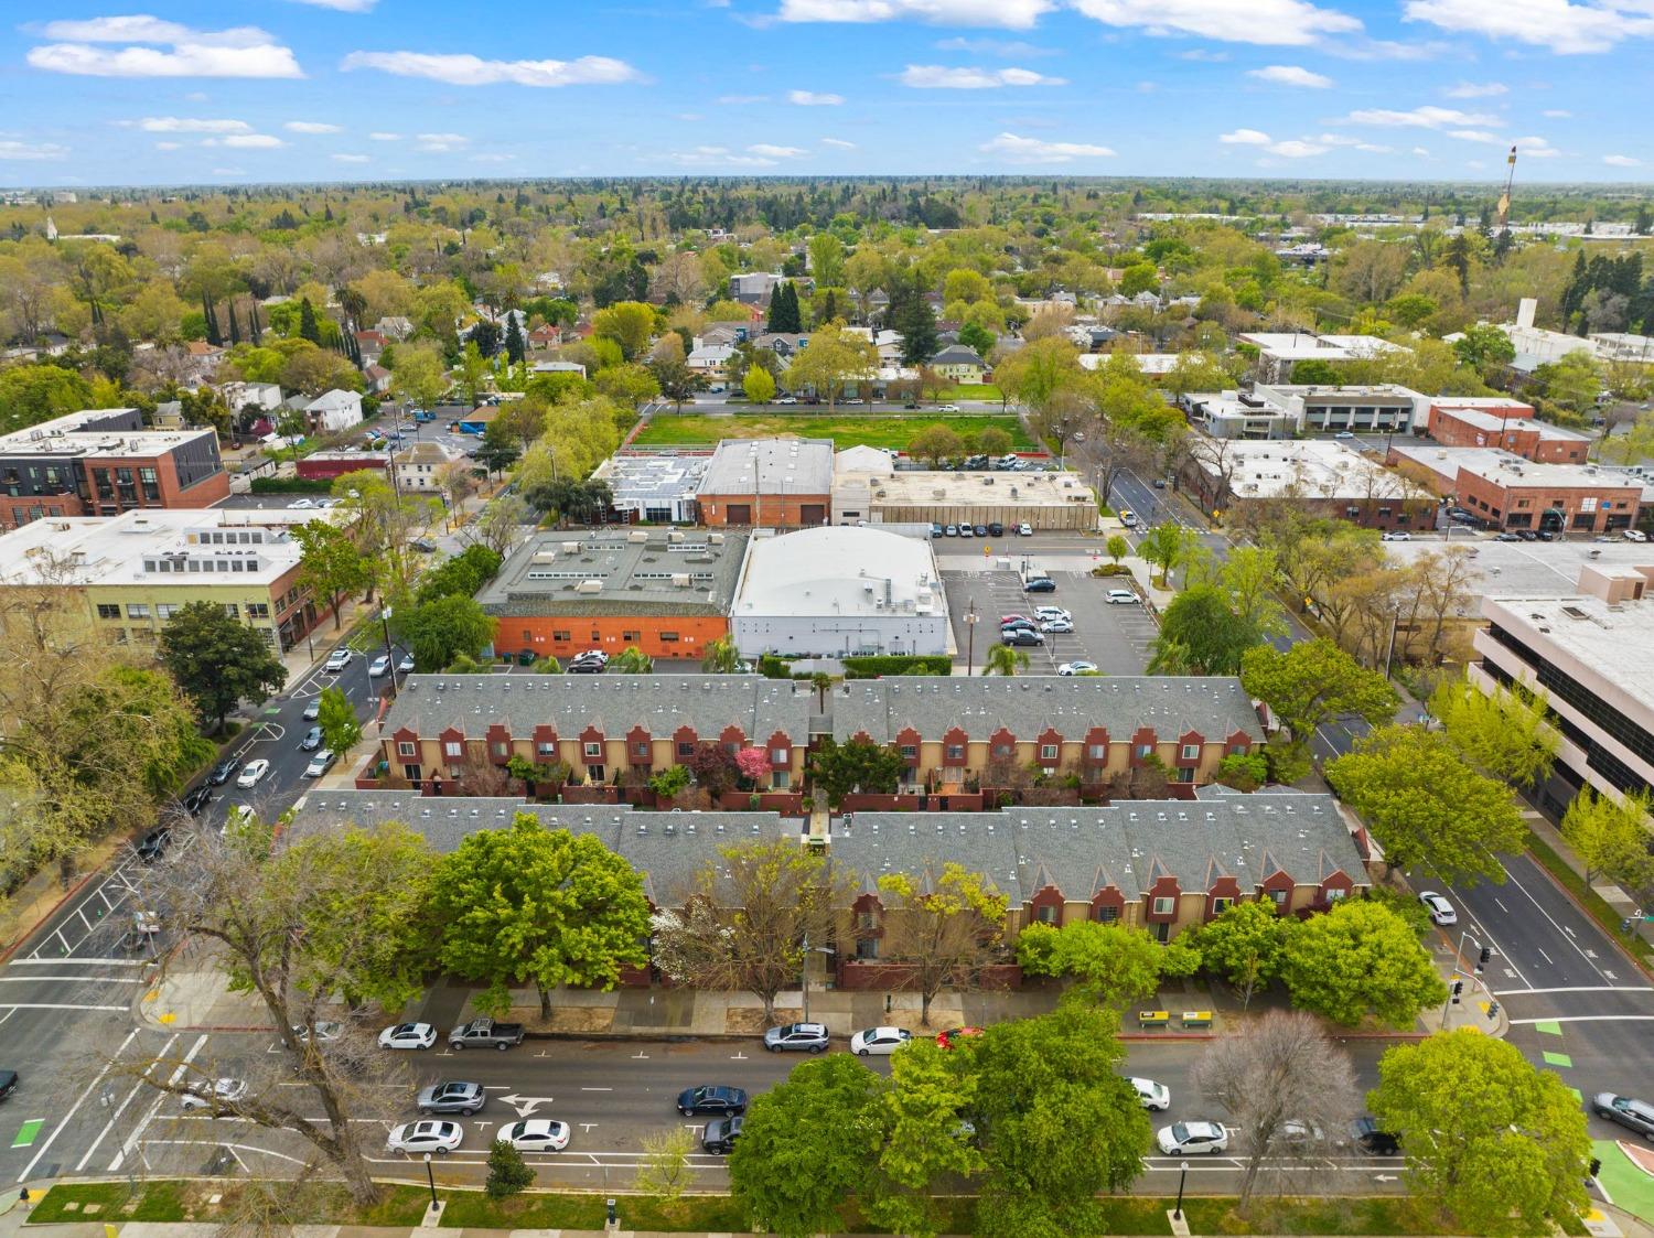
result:
<svg viewBox="0 0 1654 1238"><path fill-rule="evenodd" d="M1293 1177L1308 1185L1307 1174L1325 1174L1330 1140L1350 1129L1358 1107L1350 1056L1303 1012L1270 1010L1219 1036L1196 1058L1189 1078L1206 1099L1229 1111L1231 1154L1240 1160L1236 1212L1242 1217L1265 1165L1282 1185Z"/></svg>

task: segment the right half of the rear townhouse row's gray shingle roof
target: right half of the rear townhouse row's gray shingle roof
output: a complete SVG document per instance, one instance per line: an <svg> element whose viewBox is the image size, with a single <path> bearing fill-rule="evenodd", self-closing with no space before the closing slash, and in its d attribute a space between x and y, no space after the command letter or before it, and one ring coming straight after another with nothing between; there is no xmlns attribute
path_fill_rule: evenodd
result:
<svg viewBox="0 0 1654 1238"><path fill-rule="evenodd" d="M1126 739L1143 726L1163 740L1189 731L1207 740L1236 731L1264 739L1257 711L1234 676L901 676L840 684L829 707L840 742L865 731L875 744L888 744L908 726L936 740L953 726L982 740L1001 726L1017 739L1034 739L1047 726L1070 740L1098 726L1108 727L1110 739Z"/></svg>

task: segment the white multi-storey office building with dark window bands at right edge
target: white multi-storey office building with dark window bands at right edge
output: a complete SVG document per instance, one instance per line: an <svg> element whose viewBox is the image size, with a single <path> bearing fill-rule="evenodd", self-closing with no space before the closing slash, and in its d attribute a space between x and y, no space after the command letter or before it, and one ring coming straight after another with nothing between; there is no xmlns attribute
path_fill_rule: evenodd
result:
<svg viewBox="0 0 1654 1238"><path fill-rule="evenodd" d="M1654 567L1585 567L1571 595L1485 597L1474 636L1484 689L1520 683L1545 693L1561 732L1563 790L1606 795L1654 787ZM1571 788L1571 790L1568 790Z"/></svg>

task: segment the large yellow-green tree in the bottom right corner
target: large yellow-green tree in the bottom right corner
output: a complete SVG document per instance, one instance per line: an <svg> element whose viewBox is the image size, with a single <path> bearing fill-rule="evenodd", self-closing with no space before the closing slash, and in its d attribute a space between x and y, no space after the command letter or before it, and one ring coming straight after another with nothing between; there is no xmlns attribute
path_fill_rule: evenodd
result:
<svg viewBox="0 0 1654 1238"><path fill-rule="evenodd" d="M1398 1045L1379 1059L1368 1104L1401 1139L1411 1193L1465 1233L1555 1233L1589 1205L1580 1101L1515 1045L1475 1028Z"/></svg>

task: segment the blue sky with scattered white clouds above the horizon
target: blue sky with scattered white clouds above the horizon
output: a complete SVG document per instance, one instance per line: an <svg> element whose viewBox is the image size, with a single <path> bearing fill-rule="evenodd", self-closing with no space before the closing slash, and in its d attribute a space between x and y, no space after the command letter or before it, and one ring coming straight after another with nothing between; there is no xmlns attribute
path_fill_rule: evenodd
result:
<svg viewBox="0 0 1654 1238"><path fill-rule="evenodd" d="M1654 0L43 8L0 183L1654 172Z"/></svg>

